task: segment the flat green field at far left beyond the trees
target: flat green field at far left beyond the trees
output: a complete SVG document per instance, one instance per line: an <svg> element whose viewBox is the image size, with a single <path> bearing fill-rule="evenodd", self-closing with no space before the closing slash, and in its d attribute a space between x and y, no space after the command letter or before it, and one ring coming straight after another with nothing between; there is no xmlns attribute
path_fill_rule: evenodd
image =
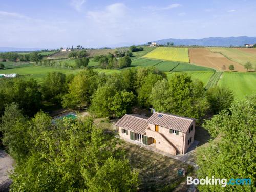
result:
<svg viewBox="0 0 256 192"><path fill-rule="evenodd" d="M71 69L60 69L60 68L52 68L52 67L45 67L45 66L27 66L27 67L20 67L20 68L12 68L1 70L1 73L18 73L21 75L19 78L23 78L28 80L33 78L37 80L38 83L41 83L44 77L47 75L48 72L61 72L65 74L76 74L80 70L71 70Z"/></svg>

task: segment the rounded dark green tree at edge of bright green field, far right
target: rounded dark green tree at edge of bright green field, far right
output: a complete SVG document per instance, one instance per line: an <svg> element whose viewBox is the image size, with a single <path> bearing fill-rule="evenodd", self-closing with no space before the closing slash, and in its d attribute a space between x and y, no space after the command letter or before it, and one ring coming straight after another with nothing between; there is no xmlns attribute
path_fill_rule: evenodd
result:
<svg viewBox="0 0 256 192"><path fill-rule="evenodd" d="M206 92L206 99L210 104L210 109L215 114L227 110L234 101L234 94L226 87L212 87Z"/></svg>

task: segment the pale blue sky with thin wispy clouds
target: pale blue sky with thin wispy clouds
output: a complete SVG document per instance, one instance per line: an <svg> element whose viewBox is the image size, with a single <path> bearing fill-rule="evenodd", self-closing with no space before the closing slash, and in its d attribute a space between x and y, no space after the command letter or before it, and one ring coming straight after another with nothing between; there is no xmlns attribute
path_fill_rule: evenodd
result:
<svg viewBox="0 0 256 192"><path fill-rule="evenodd" d="M0 47L86 48L256 36L254 0L0 0Z"/></svg>

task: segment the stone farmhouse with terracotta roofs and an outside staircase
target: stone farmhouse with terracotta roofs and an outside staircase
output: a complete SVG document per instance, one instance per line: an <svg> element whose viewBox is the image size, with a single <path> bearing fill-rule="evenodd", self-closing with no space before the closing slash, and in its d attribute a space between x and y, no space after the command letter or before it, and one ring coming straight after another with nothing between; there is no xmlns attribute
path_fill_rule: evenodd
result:
<svg viewBox="0 0 256 192"><path fill-rule="evenodd" d="M126 114L115 125L121 138L177 155L185 154L194 142L196 119L160 112L149 118Z"/></svg>

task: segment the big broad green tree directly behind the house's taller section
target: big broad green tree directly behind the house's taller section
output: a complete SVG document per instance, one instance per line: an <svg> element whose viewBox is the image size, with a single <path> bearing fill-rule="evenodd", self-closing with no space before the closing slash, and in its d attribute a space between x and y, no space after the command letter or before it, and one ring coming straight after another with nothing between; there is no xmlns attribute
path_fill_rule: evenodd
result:
<svg viewBox="0 0 256 192"><path fill-rule="evenodd" d="M155 84L150 103L156 111L191 118L202 117L208 109L201 81L192 81L186 73L175 74L167 81Z"/></svg>

